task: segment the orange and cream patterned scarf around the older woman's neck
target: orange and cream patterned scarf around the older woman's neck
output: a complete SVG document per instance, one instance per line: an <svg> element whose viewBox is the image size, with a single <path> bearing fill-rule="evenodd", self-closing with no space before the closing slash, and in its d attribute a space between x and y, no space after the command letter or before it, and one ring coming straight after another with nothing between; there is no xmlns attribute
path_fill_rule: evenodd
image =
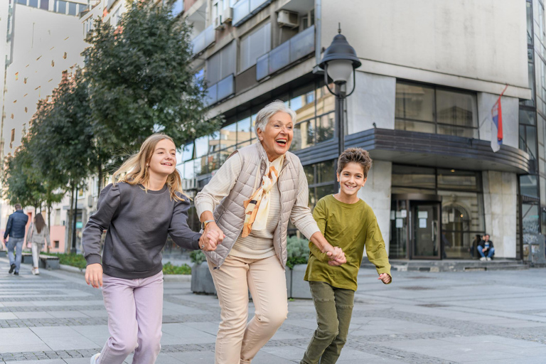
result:
<svg viewBox="0 0 546 364"><path fill-rule="evenodd" d="M272 162L267 161L269 173L262 178L260 186L252 196L245 200L245 225L242 227L242 237L247 237L252 230L264 230L267 227L267 216L269 215L269 202L271 200L271 188L277 182L281 172L284 155L279 156ZM266 170L267 171L267 170Z"/></svg>

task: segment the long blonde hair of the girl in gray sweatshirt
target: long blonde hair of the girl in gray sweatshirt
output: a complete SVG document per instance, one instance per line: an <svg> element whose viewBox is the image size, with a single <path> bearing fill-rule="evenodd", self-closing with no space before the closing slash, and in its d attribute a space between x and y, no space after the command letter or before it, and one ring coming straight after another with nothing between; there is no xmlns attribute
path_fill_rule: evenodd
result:
<svg viewBox="0 0 546 364"><path fill-rule="evenodd" d="M141 184L144 186L144 189L147 190L146 184L149 181L150 175L146 165L151 161L151 156L154 154L159 141L164 139L174 143L171 137L162 133L151 134L146 138L144 143L140 146L140 151L137 154L130 156L129 159L124 161L124 164L114 172L112 184L115 185L119 182L129 183L132 186ZM173 173L168 175L167 186L168 190L171 192L171 199L179 201L184 200L181 196L186 196L186 193L182 191L182 179L176 168ZM179 193L179 195L177 193Z"/></svg>

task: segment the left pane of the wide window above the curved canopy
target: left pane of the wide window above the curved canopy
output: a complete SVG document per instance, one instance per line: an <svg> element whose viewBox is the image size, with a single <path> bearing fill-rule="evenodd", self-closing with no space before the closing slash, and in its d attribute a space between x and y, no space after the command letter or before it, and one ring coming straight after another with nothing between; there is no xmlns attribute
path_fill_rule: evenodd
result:
<svg viewBox="0 0 546 364"><path fill-rule="evenodd" d="M397 82L395 112L396 117L434 122L434 89Z"/></svg>

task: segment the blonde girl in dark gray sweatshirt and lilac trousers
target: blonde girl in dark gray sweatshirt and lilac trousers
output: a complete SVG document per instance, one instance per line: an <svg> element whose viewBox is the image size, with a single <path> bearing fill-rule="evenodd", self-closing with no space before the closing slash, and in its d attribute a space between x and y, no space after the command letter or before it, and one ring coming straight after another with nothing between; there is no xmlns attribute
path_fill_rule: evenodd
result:
<svg viewBox="0 0 546 364"><path fill-rule="evenodd" d="M188 227L188 196L171 137L153 134L112 176L82 235L85 281L102 287L110 338L91 363L153 364L161 349L163 265L167 235L183 248L214 250L218 232ZM107 230L102 259L100 239Z"/></svg>

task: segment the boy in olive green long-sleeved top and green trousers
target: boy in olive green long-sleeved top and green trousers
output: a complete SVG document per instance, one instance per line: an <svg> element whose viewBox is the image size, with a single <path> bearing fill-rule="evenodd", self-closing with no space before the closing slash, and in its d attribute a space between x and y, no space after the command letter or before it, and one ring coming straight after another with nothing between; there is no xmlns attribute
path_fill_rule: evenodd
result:
<svg viewBox="0 0 546 364"><path fill-rule="evenodd" d="M311 338L301 364L334 364L347 341L357 289L358 269L364 247L375 264L378 279L391 282L390 264L378 220L372 208L358 198L368 179L372 159L360 148L343 151L338 159L340 191L319 200L313 211L321 232L346 254L346 264L330 260L309 244L310 255L304 279L309 281L318 328Z"/></svg>

